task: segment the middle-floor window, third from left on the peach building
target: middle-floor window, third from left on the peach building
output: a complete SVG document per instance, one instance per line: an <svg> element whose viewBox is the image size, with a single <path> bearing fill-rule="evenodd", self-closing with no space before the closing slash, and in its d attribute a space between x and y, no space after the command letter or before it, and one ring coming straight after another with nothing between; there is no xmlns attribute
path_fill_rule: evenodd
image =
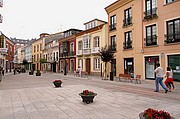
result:
<svg viewBox="0 0 180 119"><path fill-rule="evenodd" d="M157 45L156 25L146 27L146 46Z"/></svg>

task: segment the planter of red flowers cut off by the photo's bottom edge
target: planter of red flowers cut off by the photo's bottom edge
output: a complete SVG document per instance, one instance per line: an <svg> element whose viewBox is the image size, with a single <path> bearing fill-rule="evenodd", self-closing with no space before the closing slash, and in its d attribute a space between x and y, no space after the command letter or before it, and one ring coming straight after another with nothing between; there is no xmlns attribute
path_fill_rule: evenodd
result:
<svg viewBox="0 0 180 119"><path fill-rule="evenodd" d="M140 119L175 119L170 116L170 114L164 110L155 110L152 108L146 109L144 112L139 114Z"/></svg>

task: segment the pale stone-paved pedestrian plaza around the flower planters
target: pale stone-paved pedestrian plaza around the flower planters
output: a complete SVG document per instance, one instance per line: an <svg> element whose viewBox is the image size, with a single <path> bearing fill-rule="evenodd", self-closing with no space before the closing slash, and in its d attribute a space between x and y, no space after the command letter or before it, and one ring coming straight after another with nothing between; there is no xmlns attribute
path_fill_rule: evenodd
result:
<svg viewBox="0 0 180 119"><path fill-rule="evenodd" d="M52 81L61 79L61 88ZM165 110L180 119L180 82L175 90L154 92L154 81L142 84L42 73L5 74L0 82L0 119L139 119L143 110L151 107ZM82 90L96 92L94 102L83 103Z"/></svg>

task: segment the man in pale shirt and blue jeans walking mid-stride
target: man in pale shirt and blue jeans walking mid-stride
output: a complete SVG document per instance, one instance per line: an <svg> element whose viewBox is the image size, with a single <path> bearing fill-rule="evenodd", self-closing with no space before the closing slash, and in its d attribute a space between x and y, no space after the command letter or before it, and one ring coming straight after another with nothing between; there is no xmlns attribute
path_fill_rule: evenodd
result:
<svg viewBox="0 0 180 119"><path fill-rule="evenodd" d="M168 92L168 88L166 87L166 85L162 82L163 81L163 68L160 67L160 64L157 63L157 68L154 70L154 72L156 73L156 90L154 92L159 92L159 84L162 86L162 88L164 88L165 93Z"/></svg>

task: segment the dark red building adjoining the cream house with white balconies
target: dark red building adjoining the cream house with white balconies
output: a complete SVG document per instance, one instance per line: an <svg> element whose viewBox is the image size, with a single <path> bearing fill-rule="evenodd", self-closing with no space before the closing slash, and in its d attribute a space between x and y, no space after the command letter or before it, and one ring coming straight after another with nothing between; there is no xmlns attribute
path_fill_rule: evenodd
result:
<svg viewBox="0 0 180 119"><path fill-rule="evenodd" d="M59 40L59 64L60 72L73 73L76 71L76 36L81 32L79 29L64 31L64 37Z"/></svg>

